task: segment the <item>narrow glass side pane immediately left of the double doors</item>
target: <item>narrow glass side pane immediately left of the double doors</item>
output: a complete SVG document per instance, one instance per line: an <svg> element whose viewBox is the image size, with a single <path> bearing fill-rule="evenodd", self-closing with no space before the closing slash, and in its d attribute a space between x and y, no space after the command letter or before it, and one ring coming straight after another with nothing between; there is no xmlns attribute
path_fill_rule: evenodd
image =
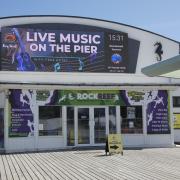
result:
<svg viewBox="0 0 180 180"><path fill-rule="evenodd" d="M74 146L74 107L67 107L67 145Z"/></svg>

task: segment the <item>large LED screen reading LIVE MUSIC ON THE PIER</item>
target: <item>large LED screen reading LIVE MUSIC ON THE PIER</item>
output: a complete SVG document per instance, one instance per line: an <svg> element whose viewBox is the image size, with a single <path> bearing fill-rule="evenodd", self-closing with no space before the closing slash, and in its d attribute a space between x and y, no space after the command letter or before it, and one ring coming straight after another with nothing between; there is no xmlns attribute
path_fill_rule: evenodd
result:
<svg viewBox="0 0 180 180"><path fill-rule="evenodd" d="M131 73L127 33L79 27L3 27L1 70Z"/></svg>

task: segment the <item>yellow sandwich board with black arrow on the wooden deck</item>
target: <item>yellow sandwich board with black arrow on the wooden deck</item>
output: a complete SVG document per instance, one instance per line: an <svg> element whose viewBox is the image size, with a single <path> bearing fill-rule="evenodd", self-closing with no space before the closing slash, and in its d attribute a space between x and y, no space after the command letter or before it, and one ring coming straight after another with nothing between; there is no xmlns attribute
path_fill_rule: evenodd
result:
<svg viewBox="0 0 180 180"><path fill-rule="evenodd" d="M108 135L108 148L109 154L119 154L123 155L123 144L121 134L109 134Z"/></svg>

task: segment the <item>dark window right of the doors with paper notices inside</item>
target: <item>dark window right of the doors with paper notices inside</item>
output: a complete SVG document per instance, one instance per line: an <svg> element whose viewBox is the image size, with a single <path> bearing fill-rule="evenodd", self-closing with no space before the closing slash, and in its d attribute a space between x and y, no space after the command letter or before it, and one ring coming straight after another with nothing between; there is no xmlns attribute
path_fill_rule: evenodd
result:
<svg viewBox="0 0 180 180"><path fill-rule="evenodd" d="M121 106L121 132L143 133L142 106Z"/></svg>

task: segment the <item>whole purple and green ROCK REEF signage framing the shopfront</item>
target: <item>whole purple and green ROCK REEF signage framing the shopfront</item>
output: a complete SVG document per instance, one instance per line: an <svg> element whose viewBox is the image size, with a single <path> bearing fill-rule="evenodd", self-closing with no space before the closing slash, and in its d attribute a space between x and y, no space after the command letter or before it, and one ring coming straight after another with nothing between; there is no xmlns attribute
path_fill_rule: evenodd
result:
<svg viewBox="0 0 180 180"><path fill-rule="evenodd" d="M33 107L36 105L128 106L126 113L130 119L136 118L134 107L142 106L146 109L148 134L170 133L168 91L166 90L142 92L125 90L41 90L36 91L36 93L31 90L10 90L9 137L33 136ZM178 118L179 116L177 116ZM134 128L134 124L131 123L129 127Z"/></svg>

